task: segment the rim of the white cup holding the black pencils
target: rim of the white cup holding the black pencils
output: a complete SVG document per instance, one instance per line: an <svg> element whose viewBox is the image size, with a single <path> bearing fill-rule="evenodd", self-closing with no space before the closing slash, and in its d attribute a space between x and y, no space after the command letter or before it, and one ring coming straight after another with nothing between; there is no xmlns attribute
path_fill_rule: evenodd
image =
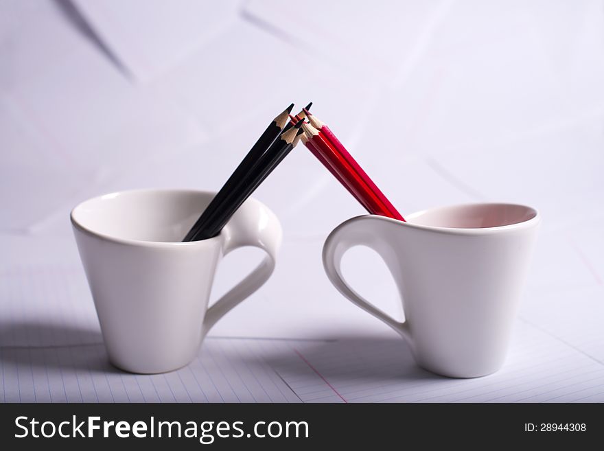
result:
<svg viewBox="0 0 604 451"><path fill-rule="evenodd" d="M222 235L222 231L218 233L215 237L206 238L205 240L196 240L196 241L149 241L149 240L132 240L131 238L119 238L113 235L108 235L106 233L101 233L95 231L89 227L84 226L82 222L78 220L75 216L77 216L78 209L84 207L87 203L90 203L94 200L103 200L103 198L115 198L121 194L137 194L137 193L153 193L153 192L167 192L167 193L178 193L178 194L206 194L209 196L215 196L216 192L206 191L203 189L187 189L187 188L137 188L137 189L122 189L119 191L114 191L107 194L101 194L100 196L94 196L88 198L86 200L82 200L82 202L75 205L73 209L71 209L71 213L69 213L69 219L71 220L71 224L75 229L82 231L88 235L92 235L95 238L100 238L104 241L114 242L117 244L128 244L130 246L144 246L144 247L159 247L159 248L167 248L167 247L175 247L175 246L203 246L209 244L211 242L217 242L218 240L222 240L224 235ZM251 203L256 203L259 205L263 205L259 200L255 198L249 197L246 199L246 203L251 201ZM201 213L200 213L201 214Z"/></svg>

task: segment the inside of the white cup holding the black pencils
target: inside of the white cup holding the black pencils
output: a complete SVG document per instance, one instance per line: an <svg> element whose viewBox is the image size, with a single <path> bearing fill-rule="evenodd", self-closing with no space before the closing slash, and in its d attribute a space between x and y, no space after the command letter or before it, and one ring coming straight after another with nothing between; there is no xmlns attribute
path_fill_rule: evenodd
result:
<svg viewBox="0 0 604 451"><path fill-rule="evenodd" d="M118 240L181 242L213 193L187 190L135 190L86 200L71 220L91 233Z"/></svg>

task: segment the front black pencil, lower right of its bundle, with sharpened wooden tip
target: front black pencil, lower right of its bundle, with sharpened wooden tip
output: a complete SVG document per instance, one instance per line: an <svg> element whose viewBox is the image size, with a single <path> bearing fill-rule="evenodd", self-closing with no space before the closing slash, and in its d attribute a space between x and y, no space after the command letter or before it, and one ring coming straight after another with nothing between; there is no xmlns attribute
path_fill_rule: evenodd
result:
<svg viewBox="0 0 604 451"><path fill-rule="evenodd" d="M294 128L281 133L279 139L276 139L270 148L264 152L248 176L229 193L223 203L223 208L217 212L214 218L211 218L207 227L194 236L194 240L205 240L220 233L222 227L229 222L235 211L251 196L268 174L287 157L294 147L294 139L302 133L300 128L302 123L303 121L296 124Z"/></svg>

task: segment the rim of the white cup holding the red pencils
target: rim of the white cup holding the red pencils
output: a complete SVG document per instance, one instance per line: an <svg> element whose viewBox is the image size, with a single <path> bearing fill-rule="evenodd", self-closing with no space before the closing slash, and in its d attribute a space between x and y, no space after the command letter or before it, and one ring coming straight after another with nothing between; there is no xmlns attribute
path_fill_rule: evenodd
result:
<svg viewBox="0 0 604 451"><path fill-rule="evenodd" d="M493 233L504 233L504 232L513 231L513 230L517 230L517 229L527 229L529 227L536 226L537 224L539 224L539 222L541 222L541 214L539 213L539 210L537 210L533 207L529 207L528 205L517 204L517 203L505 203L505 202L477 202L477 203L464 203L464 204L453 204L453 205L439 205L437 207L426 208L423 210L414 211L413 213L406 215L405 218L406 219L415 218L417 216L421 216L423 213L426 213L427 211L434 211L434 210L445 209L445 208L470 207L470 206L474 206L474 207L476 207L476 206L481 206L481 207L485 207L485 206L522 207L524 209L532 211L534 213L534 215L533 215L533 217L531 217L527 220L520 221L520 222L514 222L513 224L505 224L505 225L495 226L495 227L474 227L474 228L441 227L441 226L432 226L432 225L425 225L425 224L414 224L413 222L401 221L401 220L397 220L394 218L388 218L387 216L379 216L379 215L364 215L364 216L367 216L370 218L380 218L383 220L388 220L390 222L394 222L395 224L399 224L404 227L411 227L412 229L429 230L429 231L434 231L437 233L445 233L448 235L492 235Z"/></svg>

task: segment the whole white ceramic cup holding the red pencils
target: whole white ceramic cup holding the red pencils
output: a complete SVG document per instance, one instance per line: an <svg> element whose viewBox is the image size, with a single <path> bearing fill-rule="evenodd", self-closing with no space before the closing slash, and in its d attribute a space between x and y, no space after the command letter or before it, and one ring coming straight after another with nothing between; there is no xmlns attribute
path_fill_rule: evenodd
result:
<svg viewBox="0 0 604 451"><path fill-rule="evenodd" d="M407 341L417 364L453 378L502 367L540 222L523 205L476 204L419 211L402 222L359 216L327 238L323 264L332 284ZM342 277L352 246L375 250L391 270L405 321L360 297Z"/></svg>

